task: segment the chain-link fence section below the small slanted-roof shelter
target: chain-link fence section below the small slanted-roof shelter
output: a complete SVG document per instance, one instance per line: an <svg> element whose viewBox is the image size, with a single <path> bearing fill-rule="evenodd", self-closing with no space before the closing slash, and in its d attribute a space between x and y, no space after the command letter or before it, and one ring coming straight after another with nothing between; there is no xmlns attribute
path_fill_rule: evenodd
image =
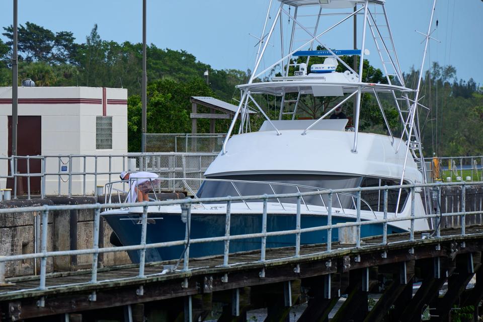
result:
<svg viewBox="0 0 483 322"><path fill-rule="evenodd" d="M219 152L226 134L147 133L146 152Z"/></svg>

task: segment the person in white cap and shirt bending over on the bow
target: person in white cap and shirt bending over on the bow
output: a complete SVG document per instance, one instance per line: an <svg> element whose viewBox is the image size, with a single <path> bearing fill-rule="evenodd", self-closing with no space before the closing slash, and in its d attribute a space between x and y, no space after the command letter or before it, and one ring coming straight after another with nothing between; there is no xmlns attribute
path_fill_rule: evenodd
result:
<svg viewBox="0 0 483 322"><path fill-rule="evenodd" d="M149 201L148 193L161 181L158 175L152 172L126 172L123 171L119 175L121 180L129 180L131 182L131 189L127 202L142 202Z"/></svg>

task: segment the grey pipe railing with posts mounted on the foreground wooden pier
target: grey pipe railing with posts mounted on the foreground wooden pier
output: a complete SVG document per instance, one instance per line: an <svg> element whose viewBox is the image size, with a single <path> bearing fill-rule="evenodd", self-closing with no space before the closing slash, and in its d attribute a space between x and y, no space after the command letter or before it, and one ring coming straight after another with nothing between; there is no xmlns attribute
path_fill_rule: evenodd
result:
<svg viewBox="0 0 483 322"><path fill-rule="evenodd" d="M8 279L5 277L5 265L7 263L12 263L16 261L25 261L25 260L32 260L32 259L40 259L40 277L39 277L39 284L37 287L29 288L29 289L21 289L15 291L6 291L2 292L0 289L0 294L10 293L10 292L25 292L31 290L46 290L46 289L55 289L58 287L63 287L66 285L46 285L46 278L47 278L47 259L48 258L55 258L59 256L75 256L75 255L91 255L92 256L92 268L91 268L91 279L89 282L82 282L78 284L97 284L97 283L112 283L114 280L126 280L126 279L143 279L146 278L144 273L144 268L146 265L146 251L150 249L156 248L166 248L166 247L176 247L182 246L183 251L180 252L180 261L177 265L170 265L165 266L162 271L155 273L154 275L162 275L168 274L174 271L181 271L187 272L189 274L190 270L196 268L190 268L190 246L194 244L205 244L205 243L214 243L214 242L222 242L224 244L224 251L223 251L223 264L221 267L228 268L230 266L229 263L229 256L230 256L230 243L234 240L243 240L243 239L254 239L259 238L260 240L260 259L256 260L254 263L268 263L271 261L280 261L282 258L275 258L275 259L266 259L266 246L267 246L267 238L274 237L274 236L294 236L294 253L292 256L287 255L287 253L283 253L283 259L302 259L306 256L313 256L314 254L300 254L300 237L304 233L309 232L318 232L323 233L324 231L327 234L327 244L326 250L324 253L331 254L333 252L340 251L332 250L332 232L334 229L341 229L344 227L356 227L355 245L347 246L347 249L364 249L370 248L373 245L365 245L361 243L361 228L364 225L372 225L372 224L379 224L383 226L383 234L382 234L382 242L381 245L392 245L397 243L404 243L406 241L415 241L415 221L420 219L431 219L434 221L434 229L430 234L418 234L418 238L435 238L435 240L439 240L441 238L441 221L443 218L446 217L458 217L461 222L461 229L454 229L455 236L468 236L466 232L466 216L472 216L483 213L483 210L475 210L475 211L466 211L465 207L465 191L467 187L467 183L435 183L435 184L412 184L412 185L400 185L400 186L384 186L384 187L364 187L364 188L350 188L350 189L337 189L337 190L317 190L317 191L310 191L310 192L297 192L297 193L287 193L287 194L263 194L263 195L255 195L255 196L234 196L234 197L219 197L219 198L199 198L199 199L181 199L181 200L165 200L165 201L152 201L152 202L141 202L141 203L121 203L121 204L81 204L81 205L43 205L43 206L35 206L35 207L19 207L19 208L7 208L7 209L0 209L0 214L5 213L23 213L23 212L40 212L41 213L41 251L38 253L32 254L19 254L19 255L10 255L0 257L0 285L8 283ZM457 212L451 213L443 213L441 207L441 187L442 186L456 186L460 187L461 189L461 210ZM483 182L475 182L471 183L471 186L483 186ZM436 212L434 214L426 215L424 213L416 213L415 211L415 193L417 188L429 188L432 189L434 192L432 196L434 197L434 203L436 204ZM399 190L399 189L409 189L411 191L411 214L408 216L399 216L399 217L388 217L387 216L387 199L388 199L388 191L389 190ZM364 191L381 191L384 198L384 217L379 219L371 219L371 220L361 220L361 193ZM335 197L335 194L339 193L349 193L355 194L356 198L356 213L357 216L354 221L350 222L343 222L343 223L333 223L332 215L332 203L328 203L328 214L327 214L327 224L321 226L314 226L314 227L301 227L301 205L302 205L302 198L308 196L327 196L328 200L332 200ZM297 198L297 207L296 212L293 214L295 218L295 225L292 229L287 230L280 230L280 231L267 231L267 218L271 215L267 211L267 203L270 199L285 199L285 198ZM263 212L262 212L262 229L260 232L255 233L246 233L246 234L230 234L231 229L231 204L237 201L251 201L251 200L263 200ZM225 233L221 236L210 236L204 238L191 238L192 235L192 228L191 228L191 209L193 205L200 204L200 203L225 203ZM146 243L147 238L147 219L148 219L148 207L149 206L166 206L166 205L180 205L181 207L181 216L180 220L185 223L185 238L181 240L172 240L172 241L165 241L162 243ZM129 245L129 246L121 246L121 247L99 247L99 236L100 236L100 217L101 211L107 208L114 208L120 209L125 207L142 207L142 215L140 216L140 223L141 223L141 233L139 244L137 245ZM93 233L92 233L92 248L90 249L81 249L81 250L66 250L66 251L48 251L48 217L49 213L52 211L58 210L85 210L85 209L93 209L94 210L94 226L93 226ZM52 214L51 214L52 215ZM387 225L394 222L400 221L410 221L410 233L409 237L401 236L397 239L397 241L388 241L387 239ZM479 230L478 230L479 231ZM478 232L480 233L480 232ZM438 239L439 238L439 239ZM401 240L402 239L402 240ZM119 277L117 279L109 280L98 280L98 257L99 254L105 253L116 253L116 252L125 252L125 251L136 251L139 252L139 267L138 271L133 274L133 276L129 277ZM318 250L320 252L320 250ZM317 253L319 254L319 253ZM221 254L220 254L221 255ZM282 256L282 255L281 255ZM288 257L287 257L288 256ZM183 262L183 267L181 270L178 269L178 266L181 265ZM239 263L238 263L239 264ZM237 265L232 263L231 265ZM151 276L152 274L150 274ZM261 277L264 277L264 270L261 272ZM69 284L72 285L72 284ZM77 285L77 284L75 284Z"/></svg>

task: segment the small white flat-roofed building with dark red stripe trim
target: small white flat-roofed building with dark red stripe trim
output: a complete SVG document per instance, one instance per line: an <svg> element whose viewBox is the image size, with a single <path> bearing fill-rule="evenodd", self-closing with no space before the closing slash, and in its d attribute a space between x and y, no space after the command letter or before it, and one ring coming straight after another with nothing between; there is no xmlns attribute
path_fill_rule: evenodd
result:
<svg viewBox="0 0 483 322"><path fill-rule="evenodd" d="M91 87L19 87L18 155L109 155L127 153L127 90ZM11 154L12 88L0 87L0 157ZM94 172L95 159L88 157L87 171ZM71 163L71 164L70 164ZM122 169L122 158L112 161ZM119 165L117 164L119 163ZM26 173L27 163L19 161L18 172ZM41 172L40 160L30 161L30 173ZM65 172L60 192L67 193L68 173L82 172L84 159L51 157L46 172ZM10 164L0 159L0 175L9 173ZM98 162L98 172L109 170L108 158ZM98 178L105 184L108 176ZM94 176L72 176L72 194L93 192ZM19 180L18 191L26 191L26 179ZM46 178L46 193L59 192L58 176ZM13 180L0 179L0 188L13 188ZM40 178L32 178L31 191L40 191Z"/></svg>

